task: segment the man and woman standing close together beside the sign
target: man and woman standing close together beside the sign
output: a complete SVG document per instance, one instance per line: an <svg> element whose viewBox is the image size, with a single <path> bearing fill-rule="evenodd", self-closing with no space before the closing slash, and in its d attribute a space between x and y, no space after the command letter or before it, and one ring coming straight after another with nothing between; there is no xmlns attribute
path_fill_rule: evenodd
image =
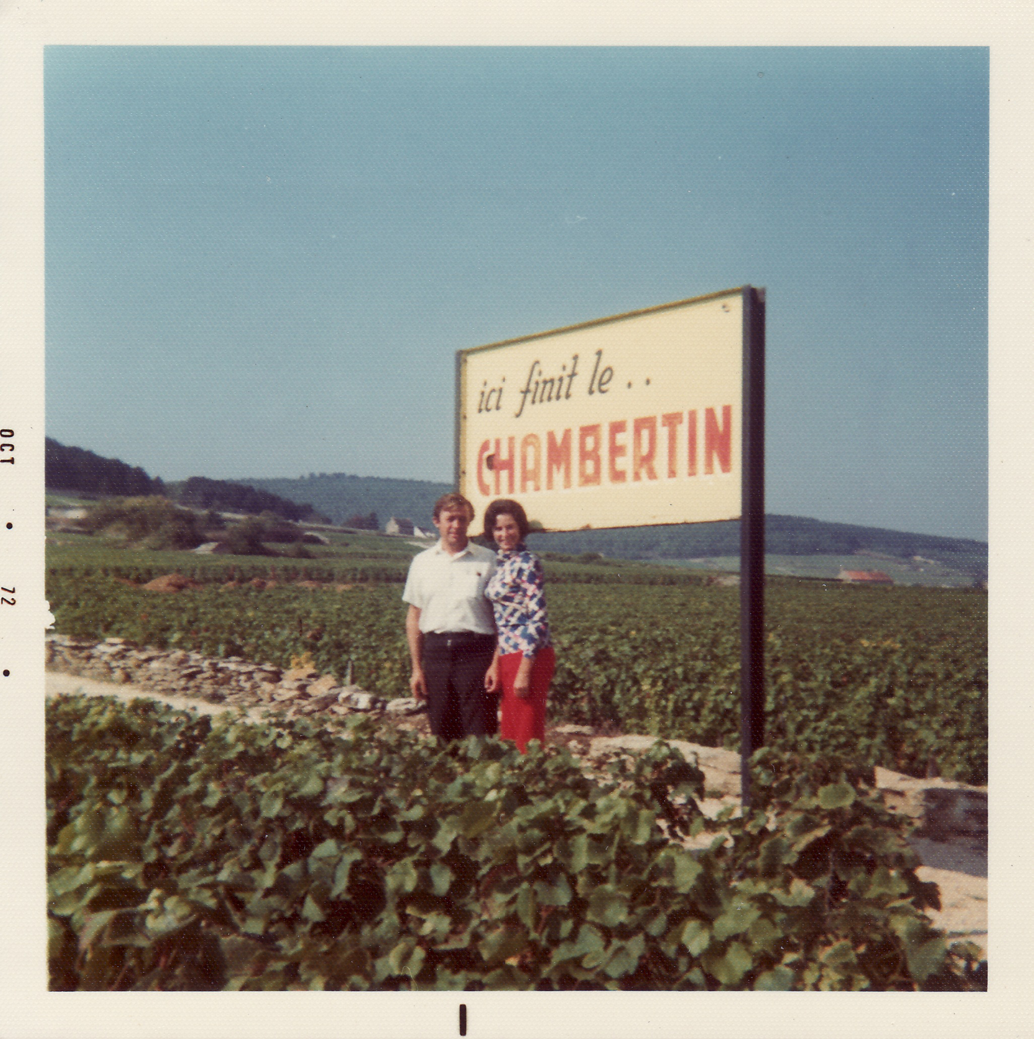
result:
<svg viewBox="0 0 1034 1039"><path fill-rule="evenodd" d="M469 540L474 507L458 494L434 503L438 544L409 565L406 640L413 695L427 701L431 732L546 741L546 697L555 656L546 614L542 564L528 552L528 517L499 499L484 513L498 554ZM499 718L500 701L502 718Z"/></svg>

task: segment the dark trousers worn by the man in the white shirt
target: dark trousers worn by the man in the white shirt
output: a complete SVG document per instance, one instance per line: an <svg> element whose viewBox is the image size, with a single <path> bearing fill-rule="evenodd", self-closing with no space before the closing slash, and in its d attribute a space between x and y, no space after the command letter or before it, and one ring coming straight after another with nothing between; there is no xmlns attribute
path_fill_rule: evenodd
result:
<svg viewBox="0 0 1034 1039"><path fill-rule="evenodd" d="M496 651L495 635L427 633L423 639L427 717L443 742L499 731L499 696L484 688Z"/></svg>

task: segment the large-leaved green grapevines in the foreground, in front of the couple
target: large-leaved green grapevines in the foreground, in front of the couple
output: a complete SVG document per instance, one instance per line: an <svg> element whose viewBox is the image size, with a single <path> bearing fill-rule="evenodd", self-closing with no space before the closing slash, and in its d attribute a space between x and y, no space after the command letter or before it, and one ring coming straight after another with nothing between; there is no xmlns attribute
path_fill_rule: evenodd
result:
<svg viewBox="0 0 1034 1039"><path fill-rule="evenodd" d="M836 757L763 751L759 810L710 820L663 744L592 777L557 747L78 696L47 749L52 989L987 985Z"/></svg>

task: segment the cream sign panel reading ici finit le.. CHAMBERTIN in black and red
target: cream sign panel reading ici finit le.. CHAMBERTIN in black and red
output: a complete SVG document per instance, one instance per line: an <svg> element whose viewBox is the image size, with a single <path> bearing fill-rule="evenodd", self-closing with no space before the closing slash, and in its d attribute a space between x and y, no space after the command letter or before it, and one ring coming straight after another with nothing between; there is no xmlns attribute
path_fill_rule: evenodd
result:
<svg viewBox="0 0 1034 1039"><path fill-rule="evenodd" d="M741 513L743 290L457 353L457 486L547 530Z"/></svg>

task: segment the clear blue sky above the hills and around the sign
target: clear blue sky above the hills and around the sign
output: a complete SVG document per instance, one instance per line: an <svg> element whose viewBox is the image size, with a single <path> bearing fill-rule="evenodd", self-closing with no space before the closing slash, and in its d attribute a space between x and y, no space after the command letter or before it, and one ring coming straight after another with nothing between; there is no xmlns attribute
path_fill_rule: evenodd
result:
<svg viewBox="0 0 1034 1039"><path fill-rule="evenodd" d="M47 431L448 481L455 350L764 286L767 509L987 536L984 49L46 53Z"/></svg>

